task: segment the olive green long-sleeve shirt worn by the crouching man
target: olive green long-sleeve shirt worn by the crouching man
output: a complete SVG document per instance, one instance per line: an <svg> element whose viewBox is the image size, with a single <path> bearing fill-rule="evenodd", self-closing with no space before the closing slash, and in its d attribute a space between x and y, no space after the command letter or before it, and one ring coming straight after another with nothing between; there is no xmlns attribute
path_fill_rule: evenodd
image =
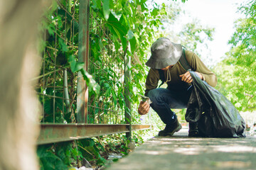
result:
<svg viewBox="0 0 256 170"><path fill-rule="evenodd" d="M188 64L193 68L194 71L199 72L203 76L203 81L206 81L210 86L215 87L217 85L217 77L216 75L206 67L205 64L200 60L200 58L193 52L185 50L186 59L188 60ZM181 64L177 62L173 67L169 68L171 74L171 81L167 82L167 89L172 90L182 90L188 89L190 84L181 81L181 77L179 75L186 73L186 69L183 69ZM164 72L164 77L166 79L167 74ZM160 76L158 69L149 69L149 74L146 77L146 94L151 89L156 89L158 86Z"/></svg>

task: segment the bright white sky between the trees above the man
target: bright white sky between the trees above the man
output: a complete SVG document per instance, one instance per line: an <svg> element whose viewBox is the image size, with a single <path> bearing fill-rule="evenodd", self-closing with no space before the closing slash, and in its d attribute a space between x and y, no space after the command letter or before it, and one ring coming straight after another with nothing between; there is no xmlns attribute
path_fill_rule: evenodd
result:
<svg viewBox="0 0 256 170"><path fill-rule="evenodd" d="M225 56L225 52L230 50L228 40L230 40L235 29L234 21L240 18L240 13L236 13L238 4L245 0L188 0L181 3L181 0L176 1L158 1L159 4L164 3L179 3L181 9L186 11L186 16L183 16L183 23L191 22L192 18L198 18L201 25L215 28L214 40L208 44L208 50L202 48L202 59L207 65L219 62Z"/></svg>

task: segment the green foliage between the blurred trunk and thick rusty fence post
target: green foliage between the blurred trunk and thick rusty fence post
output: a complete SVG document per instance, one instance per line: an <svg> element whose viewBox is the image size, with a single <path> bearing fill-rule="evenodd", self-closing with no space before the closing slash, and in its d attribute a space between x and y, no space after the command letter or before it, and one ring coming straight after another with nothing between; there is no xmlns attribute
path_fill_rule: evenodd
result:
<svg viewBox="0 0 256 170"><path fill-rule="evenodd" d="M43 15L40 47L43 63L36 89L43 103L42 122L75 123L78 72L85 79L90 93L97 96L100 91L100 86L85 71L84 63L78 62L79 6L76 2L53 1ZM68 77L64 72L68 72ZM64 85L64 81L68 84Z"/></svg>

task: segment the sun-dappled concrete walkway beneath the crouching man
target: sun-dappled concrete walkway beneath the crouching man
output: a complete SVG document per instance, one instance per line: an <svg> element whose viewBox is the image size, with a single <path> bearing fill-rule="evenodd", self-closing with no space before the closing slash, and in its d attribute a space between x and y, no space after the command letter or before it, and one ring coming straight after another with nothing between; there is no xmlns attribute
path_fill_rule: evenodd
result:
<svg viewBox="0 0 256 170"><path fill-rule="evenodd" d="M256 137L188 137L183 128L152 138L107 170L122 169L256 169Z"/></svg>

